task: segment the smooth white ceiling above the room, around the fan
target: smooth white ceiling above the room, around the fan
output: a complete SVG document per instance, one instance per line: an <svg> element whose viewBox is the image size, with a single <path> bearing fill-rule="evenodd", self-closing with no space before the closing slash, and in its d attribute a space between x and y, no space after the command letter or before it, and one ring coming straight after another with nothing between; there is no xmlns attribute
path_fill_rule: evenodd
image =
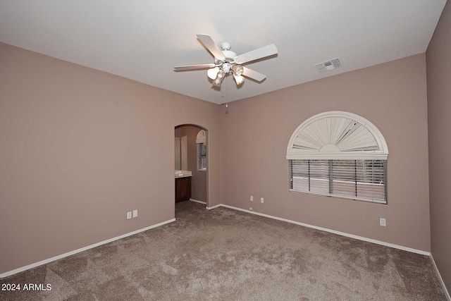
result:
<svg viewBox="0 0 451 301"><path fill-rule="evenodd" d="M446 0L0 0L0 42L221 104L424 53ZM233 78L222 91L197 34L237 54L274 43L278 56L246 66L261 83ZM314 64L344 66L318 73ZM224 95L224 97L222 97Z"/></svg>

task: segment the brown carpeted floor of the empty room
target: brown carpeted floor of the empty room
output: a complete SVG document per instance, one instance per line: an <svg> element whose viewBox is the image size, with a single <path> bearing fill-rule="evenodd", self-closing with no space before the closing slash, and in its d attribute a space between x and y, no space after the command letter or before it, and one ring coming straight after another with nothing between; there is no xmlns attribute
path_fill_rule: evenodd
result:
<svg viewBox="0 0 451 301"><path fill-rule="evenodd" d="M0 279L0 300L446 300L429 257L223 207Z"/></svg>

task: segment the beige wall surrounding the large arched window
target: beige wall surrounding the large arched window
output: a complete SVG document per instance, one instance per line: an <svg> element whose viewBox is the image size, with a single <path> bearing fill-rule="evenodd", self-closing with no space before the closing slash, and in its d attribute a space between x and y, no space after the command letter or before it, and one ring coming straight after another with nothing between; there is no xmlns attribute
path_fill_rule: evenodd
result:
<svg viewBox="0 0 451 301"><path fill-rule="evenodd" d="M223 202L430 250L424 54L233 102L221 110ZM384 135L390 152L387 205L288 192L290 136L307 118L335 110L369 119ZM257 202L249 202L249 195ZM379 217L387 219L387 227L379 226Z"/></svg>

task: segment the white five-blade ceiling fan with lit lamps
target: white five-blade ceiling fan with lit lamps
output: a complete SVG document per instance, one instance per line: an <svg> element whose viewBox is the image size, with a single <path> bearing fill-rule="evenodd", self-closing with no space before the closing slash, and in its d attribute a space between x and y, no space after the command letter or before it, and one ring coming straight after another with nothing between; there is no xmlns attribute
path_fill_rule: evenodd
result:
<svg viewBox="0 0 451 301"><path fill-rule="evenodd" d="M204 44L206 49L208 49L210 53L213 54L214 63L175 66L174 69L177 71L209 69L206 71L206 75L208 75L208 77L213 80L213 85L216 87L221 86L221 82L223 82L224 78L226 78L226 76L229 74L233 75L233 78L235 78L237 85L241 85L242 82L244 82L245 79L243 78L243 76L261 82L266 78L266 75L258 73L257 71L254 71L242 65L251 61L266 58L267 56L272 56L273 54L277 54L276 45L269 44L265 47L261 47L237 56L235 52L230 51L230 48L232 46L228 42L221 43L221 49L219 49L219 47L216 46L216 43L213 39L211 39L209 35L197 35L197 37L202 42L202 44Z"/></svg>

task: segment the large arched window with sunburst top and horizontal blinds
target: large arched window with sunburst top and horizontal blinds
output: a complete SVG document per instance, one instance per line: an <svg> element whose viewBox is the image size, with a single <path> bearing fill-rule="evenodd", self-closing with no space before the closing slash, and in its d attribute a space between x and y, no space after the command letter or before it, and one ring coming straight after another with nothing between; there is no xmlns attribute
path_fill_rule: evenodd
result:
<svg viewBox="0 0 451 301"><path fill-rule="evenodd" d="M326 112L299 125L288 144L290 191L387 203L388 147L366 119Z"/></svg>

